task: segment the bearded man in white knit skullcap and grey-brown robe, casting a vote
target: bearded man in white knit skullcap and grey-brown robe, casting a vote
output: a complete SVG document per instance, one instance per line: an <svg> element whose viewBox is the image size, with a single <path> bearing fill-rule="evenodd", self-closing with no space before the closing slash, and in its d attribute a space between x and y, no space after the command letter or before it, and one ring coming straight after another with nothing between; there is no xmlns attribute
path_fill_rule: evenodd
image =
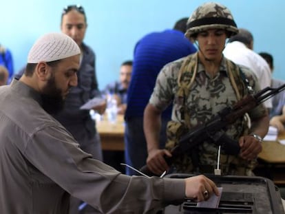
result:
<svg viewBox="0 0 285 214"><path fill-rule="evenodd" d="M218 195L204 175L129 177L79 148L50 116L77 85L79 54L69 36L45 34L19 81L0 87L0 213L66 214L70 195L100 213L156 213L185 196L202 201Z"/></svg>

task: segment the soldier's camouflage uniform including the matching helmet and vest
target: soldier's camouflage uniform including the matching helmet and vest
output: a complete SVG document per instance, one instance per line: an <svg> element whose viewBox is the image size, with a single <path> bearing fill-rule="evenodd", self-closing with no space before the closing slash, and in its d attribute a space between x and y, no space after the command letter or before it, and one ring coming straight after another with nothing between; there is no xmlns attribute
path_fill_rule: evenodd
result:
<svg viewBox="0 0 285 214"><path fill-rule="evenodd" d="M187 22L185 36L196 40L199 32L209 29L226 30L227 36L238 32L230 10L212 2L204 3L193 12ZM245 84L245 79L249 84ZM237 100L249 94L245 85L250 85L254 92L259 91L257 84L257 78L251 70L226 58L222 58L219 72L213 77L205 72L197 54L165 65L158 75L149 103L162 110L173 101L171 121L167 127L167 149L177 145L180 137L189 129L204 125L218 111L233 106ZM249 118L252 120L265 115L266 109L263 105L249 112ZM249 134L245 118L241 117L226 127L226 135L233 140L239 140L241 136ZM196 167L199 167L202 173L213 173L217 165L217 155L218 146L206 139L187 155L173 160L173 165L182 173L196 173ZM239 156L228 155L222 149L220 164L223 174L252 175L251 170L255 167L256 160L246 161Z"/></svg>

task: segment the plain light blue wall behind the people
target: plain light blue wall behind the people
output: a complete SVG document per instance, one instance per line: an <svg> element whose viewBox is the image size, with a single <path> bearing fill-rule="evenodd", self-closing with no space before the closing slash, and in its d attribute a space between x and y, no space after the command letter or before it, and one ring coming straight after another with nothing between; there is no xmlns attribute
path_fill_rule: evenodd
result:
<svg viewBox="0 0 285 214"><path fill-rule="evenodd" d="M189 15L200 0L1 0L0 42L12 50L14 67L25 65L30 47L46 32L60 31L62 8L80 3L87 14L85 43L96 52L99 87L118 78L120 63L131 59L136 41L152 31L172 28L177 19ZM271 52L276 78L285 79L285 1L224 0L239 27L255 37L256 52ZM281 27L279 27L281 26Z"/></svg>

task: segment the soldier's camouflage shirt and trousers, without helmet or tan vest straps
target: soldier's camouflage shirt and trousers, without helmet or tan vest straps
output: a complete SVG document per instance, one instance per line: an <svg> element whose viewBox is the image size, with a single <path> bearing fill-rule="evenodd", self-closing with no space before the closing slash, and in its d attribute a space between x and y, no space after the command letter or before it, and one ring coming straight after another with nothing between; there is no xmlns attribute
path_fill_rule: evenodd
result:
<svg viewBox="0 0 285 214"><path fill-rule="evenodd" d="M171 117L173 121L169 123L168 129L173 129L171 126L178 126L179 128L176 127L176 136L168 136L169 138L179 138L184 132L189 131L189 128L191 129L203 125L209 121L213 115L217 114L218 111L224 109L224 107L232 106L237 102L237 96L229 78L229 72L232 71L227 70L226 59L223 58L220 64L220 72L213 78L205 72L202 63L198 62L196 77L190 85L189 96L185 98L186 103L184 103L184 98L178 96L178 76L180 67L185 58L186 57L180 58L163 67L158 75L154 93L149 100L149 103L158 109L165 109L173 100ZM239 67L249 80L249 85L251 85L255 92L259 91L260 87L256 84L257 80L253 72L246 67ZM188 72L188 74L189 73L190 72ZM244 95L245 94L242 94L242 96ZM189 121L185 121L185 114L189 116ZM265 109L260 105L251 111L249 116L254 120L255 118L264 116L264 114ZM189 125L187 126L185 124ZM244 122L244 118L240 118L227 128L226 134L238 140L240 136L244 135L246 127L247 125ZM177 143L177 140L175 143ZM173 148L175 143L169 139L167 149ZM196 152L198 152L201 172L213 173L213 167L216 167L217 164L218 146L212 142L205 141L198 146ZM238 156L228 156L222 151L220 163L224 174L250 175L255 161L247 162ZM189 156L180 157L179 160L175 160L174 166L178 172L193 173L193 166Z"/></svg>

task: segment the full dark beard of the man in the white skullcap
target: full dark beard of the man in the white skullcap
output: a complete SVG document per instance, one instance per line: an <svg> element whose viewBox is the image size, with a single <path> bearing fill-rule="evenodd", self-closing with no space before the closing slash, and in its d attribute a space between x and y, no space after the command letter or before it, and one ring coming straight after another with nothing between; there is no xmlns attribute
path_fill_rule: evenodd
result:
<svg viewBox="0 0 285 214"><path fill-rule="evenodd" d="M43 88L41 100L42 107L48 114L56 114L63 109L63 96L61 96L61 89L56 87L54 76L47 81L47 85Z"/></svg>

